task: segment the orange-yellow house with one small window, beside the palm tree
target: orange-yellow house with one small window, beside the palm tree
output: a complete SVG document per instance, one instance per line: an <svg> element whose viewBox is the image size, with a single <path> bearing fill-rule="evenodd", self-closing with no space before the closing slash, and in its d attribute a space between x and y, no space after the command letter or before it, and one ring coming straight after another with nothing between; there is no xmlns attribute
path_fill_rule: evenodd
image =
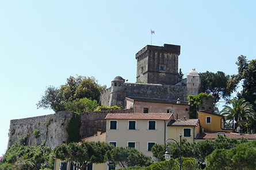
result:
<svg viewBox="0 0 256 170"><path fill-rule="evenodd" d="M224 129L224 116L215 113L197 111L202 132L233 132L233 129Z"/></svg>

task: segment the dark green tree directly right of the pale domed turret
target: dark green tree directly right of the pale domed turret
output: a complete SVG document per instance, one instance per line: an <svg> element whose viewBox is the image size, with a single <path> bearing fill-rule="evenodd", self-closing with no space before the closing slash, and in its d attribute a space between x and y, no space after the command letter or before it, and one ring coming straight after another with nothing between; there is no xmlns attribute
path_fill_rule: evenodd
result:
<svg viewBox="0 0 256 170"><path fill-rule="evenodd" d="M236 86L231 83L231 76L226 75L224 72L218 71L217 73L205 72L199 73L201 78L201 91L203 93L212 94L214 102L218 102L220 98L228 100L231 93L235 91ZM228 85L228 82L230 85Z"/></svg>

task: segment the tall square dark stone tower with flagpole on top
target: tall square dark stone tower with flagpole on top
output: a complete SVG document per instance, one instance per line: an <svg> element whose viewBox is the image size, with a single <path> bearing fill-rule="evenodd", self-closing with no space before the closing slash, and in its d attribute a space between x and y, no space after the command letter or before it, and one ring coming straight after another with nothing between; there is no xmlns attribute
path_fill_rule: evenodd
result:
<svg viewBox="0 0 256 170"><path fill-rule="evenodd" d="M178 82L178 56L181 46L147 45L136 53L137 82L175 85Z"/></svg>

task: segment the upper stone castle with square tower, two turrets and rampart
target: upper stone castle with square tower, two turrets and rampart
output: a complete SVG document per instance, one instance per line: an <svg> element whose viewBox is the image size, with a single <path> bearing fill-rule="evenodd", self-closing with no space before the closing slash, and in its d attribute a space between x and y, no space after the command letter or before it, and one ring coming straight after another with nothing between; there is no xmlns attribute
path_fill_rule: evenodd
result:
<svg viewBox="0 0 256 170"><path fill-rule="evenodd" d="M181 46L147 45L136 53L137 83L117 76L110 88L101 93L100 104L125 108L125 97L188 102L188 95L198 94L200 77L193 69L184 80L178 78L178 56Z"/></svg>

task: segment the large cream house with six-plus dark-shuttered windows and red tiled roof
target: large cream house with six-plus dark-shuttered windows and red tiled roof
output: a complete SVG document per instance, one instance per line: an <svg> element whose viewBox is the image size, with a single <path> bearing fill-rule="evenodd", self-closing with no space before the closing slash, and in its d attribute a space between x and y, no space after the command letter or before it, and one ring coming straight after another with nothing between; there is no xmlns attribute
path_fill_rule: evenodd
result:
<svg viewBox="0 0 256 170"><path fill-rule="evenodd" d="M110 113L106 116L106 143L135 148L152 157L151 147L165 143L171 116L170 113Z"/></svg>

